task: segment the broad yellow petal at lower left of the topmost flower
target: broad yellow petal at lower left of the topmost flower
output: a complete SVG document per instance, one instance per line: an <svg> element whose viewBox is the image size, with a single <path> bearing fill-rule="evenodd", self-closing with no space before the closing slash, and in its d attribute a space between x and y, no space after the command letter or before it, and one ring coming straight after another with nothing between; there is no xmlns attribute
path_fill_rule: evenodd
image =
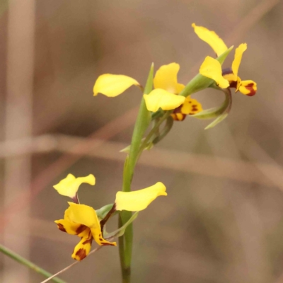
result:
<svg viewBox="0 0 283 283"><path fill-rule="evenodd" d="M200 74L216 81L221 88L228 88L229 81L222 76L221 64L214 58L207 56L200 67Z"/></svg>

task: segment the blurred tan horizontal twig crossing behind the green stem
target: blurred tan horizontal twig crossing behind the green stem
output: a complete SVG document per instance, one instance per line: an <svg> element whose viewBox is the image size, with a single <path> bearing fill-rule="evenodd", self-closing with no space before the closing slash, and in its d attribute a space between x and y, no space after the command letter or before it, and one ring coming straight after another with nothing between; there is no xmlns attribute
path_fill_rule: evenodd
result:
<svg viewBox="0 0 283 283"><path fill-rule="evenodd" d="M123 162L125 155L120 153L127 144L92 139L93 145L86 153L85 149L76 146L83 144L85 138L66 135L43 135L35 139L13 141L13 146L0 144L0 157L15 156L16 154L45 153L59 151L67 156L91 156ZM99 151L94 150L95 145L100 146ZM255 149L252 144L250 144ZM250 148L246 144L246 148ZM154 148L149 154L141 157L141 164L158 168L165 168L188 173L211 175L220 178L259 183L261 185L277 186L283 190L283 168L277 163L262 163L258 161L236 161L229 158L207 156L202 154L187 154L181 151L168 151Z"/></svg>

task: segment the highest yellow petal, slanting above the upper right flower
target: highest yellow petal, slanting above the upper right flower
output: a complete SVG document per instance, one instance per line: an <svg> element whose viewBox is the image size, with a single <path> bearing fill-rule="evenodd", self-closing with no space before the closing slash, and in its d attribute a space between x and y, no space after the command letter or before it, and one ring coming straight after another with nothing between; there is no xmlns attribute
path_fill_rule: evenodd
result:
<svg viewBox="0 0 283 283"><path fill-rule="evenodd" d="M221 38L216 35L214 31L195 25L195 23L192 24L192 28L195 29L195 33L198 37L200 37L201 40L207 42L207 44L212 47L217 56L220 56L228 49L224 41L221 40Z"/></svg>

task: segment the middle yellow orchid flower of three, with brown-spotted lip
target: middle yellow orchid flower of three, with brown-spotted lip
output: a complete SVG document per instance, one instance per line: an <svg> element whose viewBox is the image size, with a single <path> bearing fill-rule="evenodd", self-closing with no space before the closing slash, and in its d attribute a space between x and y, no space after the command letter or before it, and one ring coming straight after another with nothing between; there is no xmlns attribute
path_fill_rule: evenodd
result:
<svg viewBox="0 0 283 283"><path fill-rule="evenodd" d="M175 110L181 105L186 105L186 111L183 112L183 115L196 114L202 110L202 105L197 100L178 96L185 87L183 84L178 83L177 75L179 69L179 64L171 63L160 67L156 71L154 90L149 94L144 94L146 108L149 111L156 112L159 108L162 110ZM130 86L140 86L140 84L129 76L104 74L98 77L93 87L93 93L94 96L102 93L108 97L115 97L119 96Z"/></svg>

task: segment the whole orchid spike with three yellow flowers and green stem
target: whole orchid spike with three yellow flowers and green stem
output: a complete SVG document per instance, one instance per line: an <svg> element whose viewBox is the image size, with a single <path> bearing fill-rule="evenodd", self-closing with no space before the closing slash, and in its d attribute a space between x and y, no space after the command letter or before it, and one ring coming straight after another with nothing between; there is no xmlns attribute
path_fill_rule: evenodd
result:
<svg viewBox="0 0 283 283"><path fill-rule="evenodd" d="M214 127L224 120L231 110L231 88L235 88L236 93L240 92L246 96L254 96L257 91L257 84L254 81L242 81L238 76L243 52L247 49L246 43L236 48L231 67L224 69L222 64L233 50L233 46L228 48L214 31L195 23L192 24L192 28L201 40L212 47L216 57L205 57L199 74L186 85L178 83L180 66L177 63L161 66L155 76L152 64L145 87L137 80L120 74L103 74L94 84L94 96L98 93L108 97L119 96L131 86L137 86L143 92L131 144L122 150L127 153L127 157L122 189L117 192L115 201L97 210L79 203L79 186L81 183L95 185L96 179L93 175L75 178L74 175L69 174L67 178L54 185L59 194L73 200L69 202L64 219L55 221L61 231L81 238L71 257L75 260L85 258L91 250L93 239L100 246L116 246L112 238L119 237L123 282L130 282L132 221L137 218L138 212L145 209L156 197L167 195L166 187L161 182L131 192L134 168L142 152L151 149L166 137L174 121L183 121L188 115L198 119L215 119L207 128ZM202 104L197 99L191 98L191 95L205 88L214 88L224 93L224 103L217 108L203 110ZM115 214L119 215L119 228L108 233L105 229L106 223Z"/></svg>

